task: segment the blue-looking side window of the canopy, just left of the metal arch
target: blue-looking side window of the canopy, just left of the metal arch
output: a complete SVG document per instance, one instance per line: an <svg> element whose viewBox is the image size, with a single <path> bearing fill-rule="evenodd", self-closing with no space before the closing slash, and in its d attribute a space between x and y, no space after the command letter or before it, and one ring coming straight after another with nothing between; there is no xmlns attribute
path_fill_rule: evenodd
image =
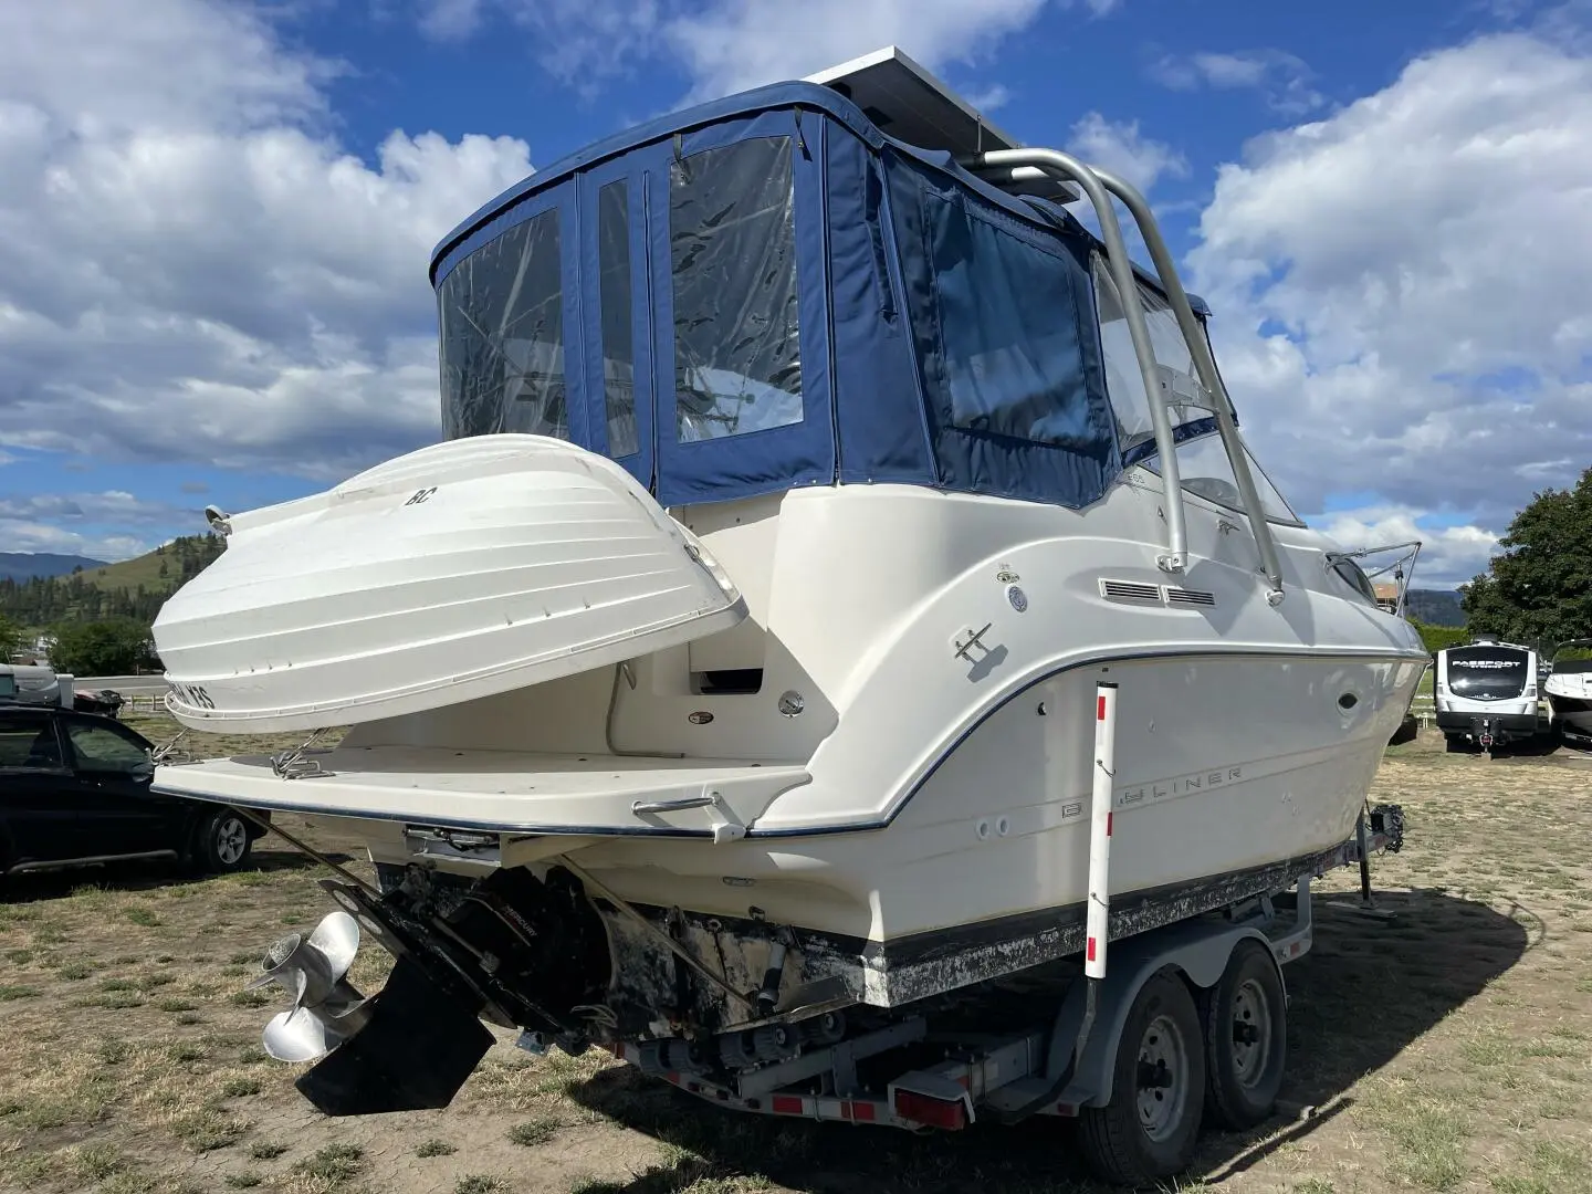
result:
<svg viewBox="0 0 1592 1194"><path fill-rule="evenodd" d="M1071 263L962 204L925 209L950 420L1038 444L1091 439Z"/></svg>

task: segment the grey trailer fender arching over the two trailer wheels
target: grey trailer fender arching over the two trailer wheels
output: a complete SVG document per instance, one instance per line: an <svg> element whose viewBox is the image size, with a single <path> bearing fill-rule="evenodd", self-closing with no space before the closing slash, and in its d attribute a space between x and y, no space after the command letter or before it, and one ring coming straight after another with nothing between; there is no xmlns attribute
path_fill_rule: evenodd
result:
<svg viewBox="0 0 1592 1194"><path fill-rule="evenodd" d="M1110 1103L1111 1076L1116 1068L1122 1025L1127 1022L1134 1000L1138 998L1138 992L1149 977L1162 970L1173 970L1194 987L1196 998L1200 998L1205 990L1221 981L1227 970L1227 958L1247 938L1259 941L1266 947L1266 957L1272 958L1272 965L1277 966L1270 939L1253 925L1169 925L1164 930L1141 933L1126 941L1113 941L1110 968L1100 981L1094 1027L1084 1043L1078 1068L1057 1097L1057 1103L1075 1108ZM1278 981L1283 979L1282 966L1277 968L1277 976ZM1083 981L1071 985L1057 1013L1055 1027L1051 1030L1046 1076L1052 1081L1065 1071L1067 1060L1078 1043L1086 989L1087 982ZM1283 998L1286 993L1285 984Z"/></svg>

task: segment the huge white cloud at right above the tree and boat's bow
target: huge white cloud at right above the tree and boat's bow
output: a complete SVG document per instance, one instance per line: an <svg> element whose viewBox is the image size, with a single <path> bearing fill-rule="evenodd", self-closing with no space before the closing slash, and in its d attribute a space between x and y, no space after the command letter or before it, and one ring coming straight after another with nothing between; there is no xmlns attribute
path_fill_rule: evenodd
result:
<svg viewBox="0 0 1592 1194"><path fill-rule="evenodd" d="M1192 282L1299 508L1501 529L1592 460L1589 145L1592 59L1496 35L1221 167Z"/></svg>

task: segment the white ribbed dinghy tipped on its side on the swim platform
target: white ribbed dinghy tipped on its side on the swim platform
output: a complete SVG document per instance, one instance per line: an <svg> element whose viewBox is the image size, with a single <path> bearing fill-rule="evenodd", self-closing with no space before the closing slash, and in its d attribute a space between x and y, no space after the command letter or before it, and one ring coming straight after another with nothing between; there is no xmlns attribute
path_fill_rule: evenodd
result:
<svg viewBox="0 0 1592 1194"><path fill-rule="evenodd" d="M371 721L724 630L747 605L622 468L560 439L454 439L218 516L159 618L169 707L259 734Z"/></svg>

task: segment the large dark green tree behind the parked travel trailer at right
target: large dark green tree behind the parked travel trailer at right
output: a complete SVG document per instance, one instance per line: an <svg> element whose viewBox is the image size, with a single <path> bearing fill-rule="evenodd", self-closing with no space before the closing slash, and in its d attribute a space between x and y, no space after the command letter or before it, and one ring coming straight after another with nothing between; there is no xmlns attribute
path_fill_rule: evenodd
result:
<svg viewBox="0 0 1592 1194"><path fill-rule="evenodd" d="M1466 584L1469 629L1516 643L1592 637L1592 468L1514 516L1487 572Z"/></svg>

